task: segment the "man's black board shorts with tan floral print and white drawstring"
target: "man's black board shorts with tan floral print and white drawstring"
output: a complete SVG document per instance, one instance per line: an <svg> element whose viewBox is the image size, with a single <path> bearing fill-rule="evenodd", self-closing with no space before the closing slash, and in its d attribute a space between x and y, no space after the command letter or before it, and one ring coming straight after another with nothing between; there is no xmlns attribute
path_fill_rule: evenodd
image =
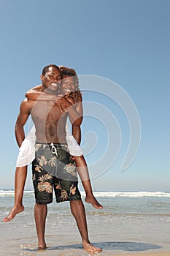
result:
<svg viewBox="0 0 170 256"><path fill-rule="evenodd" d="M32 178L36 203L80 200L77 170L68 146L61 143L36 143L32 162Z"/></svg>

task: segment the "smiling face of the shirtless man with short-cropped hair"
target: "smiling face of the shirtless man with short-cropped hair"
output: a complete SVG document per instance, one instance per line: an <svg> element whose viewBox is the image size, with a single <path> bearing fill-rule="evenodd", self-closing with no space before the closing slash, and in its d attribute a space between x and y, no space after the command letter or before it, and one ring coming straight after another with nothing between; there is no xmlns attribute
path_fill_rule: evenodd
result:
<svg viewBox="0 0 170 256"><path fill-rule="evenodd" d="M42 87L45 92L55 94L61 85L61 72L55 67L49 67L45 75L41 75Z"/></svg>

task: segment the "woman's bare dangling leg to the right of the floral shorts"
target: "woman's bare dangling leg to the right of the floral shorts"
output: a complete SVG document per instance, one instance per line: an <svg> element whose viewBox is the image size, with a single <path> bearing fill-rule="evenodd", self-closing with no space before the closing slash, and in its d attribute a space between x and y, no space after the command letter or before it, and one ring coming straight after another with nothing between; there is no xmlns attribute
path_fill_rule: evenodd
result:
<svg viewBox="0 0 170 256"><path fill-rule="evenodd" d="M85 158L83 156L81 157L74 157L74 161L76 163L77 172L79 173L79 176L82 181L82 186L85 189L85 202L91 203L94 208L102 209L103 206L101 206L100 203L96 200L96 197L93 195L89 173L88 173L88 167L85 162Z"/></svg>

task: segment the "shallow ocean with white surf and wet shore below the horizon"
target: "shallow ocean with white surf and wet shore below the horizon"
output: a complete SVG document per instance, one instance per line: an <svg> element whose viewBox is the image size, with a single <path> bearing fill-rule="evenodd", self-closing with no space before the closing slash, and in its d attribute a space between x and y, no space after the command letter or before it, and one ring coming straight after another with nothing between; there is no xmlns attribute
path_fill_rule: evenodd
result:
<svg viewBox="0 0 170 256"><path fill-rule="evenodd" d="M85 203L90 241L104 255L170 251L170 192L94 192L104 208ZM3 219L14 203L14 191L0 190ZM0 222L0 255L37 255L34 192L25 191L25 211L11 222ZM69 202L48 205L47 249L43 255L88 255L83 251Z"/></svg>

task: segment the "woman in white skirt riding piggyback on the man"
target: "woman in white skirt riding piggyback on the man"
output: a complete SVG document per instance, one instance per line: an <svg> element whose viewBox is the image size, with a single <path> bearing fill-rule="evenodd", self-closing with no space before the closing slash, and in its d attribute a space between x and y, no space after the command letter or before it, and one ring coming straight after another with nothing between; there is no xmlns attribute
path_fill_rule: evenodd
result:
<svg viewBox="0 0 170 256"><path fill-rule="evenodd" d="M65 98L67 99L70 99L70 97L71 99L74 99L74 108L77 111L77 113L79 113L80 116L82 116L83 115L82 114L82 95L79 88L77 73L75 72L74 69L70 69L68 67L61 66L59 68L60 68L63 79L61 83L62 91L60 88L57 94L60 96L61 94L66 95ZM35 86L33 89L30 89L29 91L27 91L26 97L28 99L35 100L35 101L40 100L40 101L47 102L52 100L53 101L58 100L58 105L59 105L60 99L58 99L57 95L46 94L41 90L42 90L42 85ZM63 100L64 99L62 98L61 99L62 104L63 104ZM68 102L66 101L66 103ZM62 106L62 108L64 108L64 105ZM76 138L77 143L80 144L81 129L80 129L80 125L77 125L77 122L75 122L75 124L74 122L72 123L72 135L74 135L74 138ZM100 203L98 203L98 201L96 200L96 197L94 197L93 195L93 190L90 184L90 178L88 176L88 167L85 162L85 158L82 155L82 151L78 148L78 145L76 146L76 140L73 141L72 135L69 135L69 142L67 141L67 143L68 143L70 154L72 154L72 157L74 156L74 162L76 163L76 166L77 166L77 172L79 173L79 176L82 181L82 185L85 189L85 194L86 194L85 202L91 203L94 208L101 209L103 207L101 206ZM66 136L68 139L68 134ZM32 139L30 140L28 138L32 138ZM12 210L9 212L9 214L7 214L7 217L3 219L4 222L11 221L16 214L24 210L23 202L22 202L23 189L26 181L27 165L33 161L32 154L28 155L28 151L34 152L34 149L31 148L32 146L34 147L34 138L35 138L34 132L29 132L28 138L26 139L26 141L25 140L23 141L22 146L20 147L21 154L19 154L18 156L19 162L17 161L17 167L15 171L15 205L12 207Z"/></svg>

